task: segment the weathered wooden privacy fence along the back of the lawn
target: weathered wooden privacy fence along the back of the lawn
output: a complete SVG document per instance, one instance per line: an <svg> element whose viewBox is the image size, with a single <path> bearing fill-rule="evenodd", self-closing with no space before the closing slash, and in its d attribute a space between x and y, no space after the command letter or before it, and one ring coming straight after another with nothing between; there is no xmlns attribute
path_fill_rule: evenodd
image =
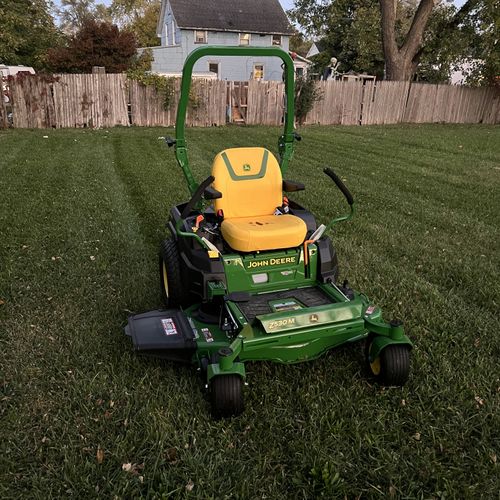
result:
<svg viewBox="0 0 500 500"><path fill-rule="evenodd" d="M499 123L500 92L409 82L318 82L322 99L305 124ZM180 82L165 95L122 74L21 75L9 79L13 126L18 128L172 126ZM188 126L226 123L280 125L281 82L195 80ZM7 125L0 104L0 127Z"/></svg>

